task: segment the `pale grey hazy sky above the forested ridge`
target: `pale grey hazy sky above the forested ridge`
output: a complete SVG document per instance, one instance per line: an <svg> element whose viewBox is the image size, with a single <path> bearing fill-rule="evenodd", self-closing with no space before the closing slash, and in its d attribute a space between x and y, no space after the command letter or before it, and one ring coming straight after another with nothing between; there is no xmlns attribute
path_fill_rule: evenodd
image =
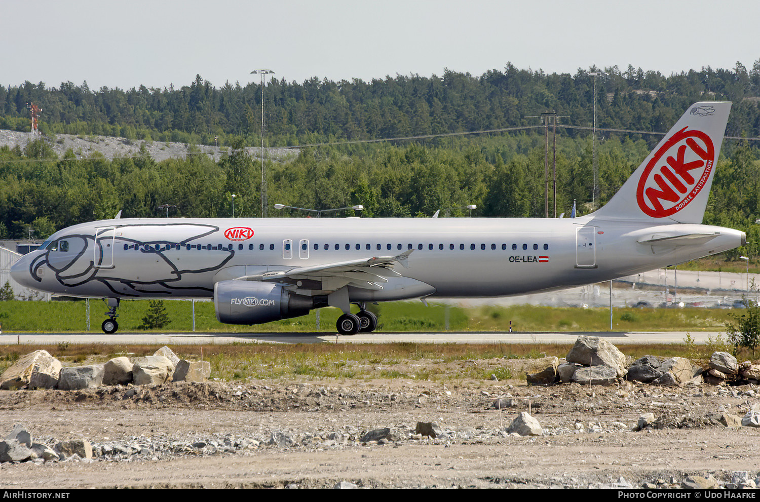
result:
<svg viewBox="0 0 760 502"><path fill-rule="evenodd" d="M221 87L318 77L575 74L628 65L663 74L748 69L757 0L0 0L0 84Z"/></svg>

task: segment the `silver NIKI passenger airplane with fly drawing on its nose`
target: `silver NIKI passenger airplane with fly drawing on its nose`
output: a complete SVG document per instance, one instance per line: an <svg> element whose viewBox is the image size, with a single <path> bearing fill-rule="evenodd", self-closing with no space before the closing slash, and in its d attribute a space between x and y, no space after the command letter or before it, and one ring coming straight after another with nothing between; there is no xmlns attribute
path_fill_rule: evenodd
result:
<svg viewBox="0 0 760 502"><path fill-rule="evenodd" d="M226 324L340 308L337 331L371 332L368 302L499 297L597 283L746 244L701 225L731 103L692 105L600 209L576 218L105 219L52 234L11 267L43 292L213 298ZM351 313L351 305L359 312Z"/></svg>

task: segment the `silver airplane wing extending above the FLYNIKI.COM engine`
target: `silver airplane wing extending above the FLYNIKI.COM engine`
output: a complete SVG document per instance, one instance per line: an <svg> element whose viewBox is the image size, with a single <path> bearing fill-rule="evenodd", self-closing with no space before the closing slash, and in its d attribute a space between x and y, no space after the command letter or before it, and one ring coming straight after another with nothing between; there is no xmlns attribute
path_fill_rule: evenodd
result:
<svg viewBox="0 0 760 502"><path fill-rule="evenodd" d="M321 282L321 289L329 291L336 291L344 286L381 290L383 283L388 282L388 277L401 277L401 273L393 270L395 264L409 267L407 258L412 251L414 250L410 249L392 257L369 257L310 267L293 267L289 270L275 270L242 276L238 277L237 280L282 282L316 280Z"/></svg>

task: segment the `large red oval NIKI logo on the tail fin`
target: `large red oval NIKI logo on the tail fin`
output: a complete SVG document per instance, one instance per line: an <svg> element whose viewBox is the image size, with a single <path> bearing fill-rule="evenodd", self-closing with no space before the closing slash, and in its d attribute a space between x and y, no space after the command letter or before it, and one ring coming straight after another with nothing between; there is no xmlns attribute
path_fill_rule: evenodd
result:
<svg viewBox="0 0 760 502"><path fill-rule="evenodd" d="M710 179L715 162L712 140L702 131L686 129L654 153L638 180L638 207L654 218L678 213Z"/></svg>

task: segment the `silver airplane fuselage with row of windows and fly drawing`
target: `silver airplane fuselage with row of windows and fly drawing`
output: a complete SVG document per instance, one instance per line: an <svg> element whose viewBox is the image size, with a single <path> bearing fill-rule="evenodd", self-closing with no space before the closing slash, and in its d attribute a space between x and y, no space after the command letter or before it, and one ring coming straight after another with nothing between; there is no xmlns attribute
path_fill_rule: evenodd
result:
<svg viewBox="0 0 760 502"><path fill-rule="evenodd" d="M714 237L665 248L641 242L684 234ZM614 279L720 253L743 239L715 226L589 217L112 219L56 232L52 246L14 270L26 267L33 282L25 282L59 295L210 298L220 280L413 250L404 276L430 289L394 293L391 284L352 291L350 300L489 297ZM326 289L309 280L294 287L307 295Z"/></svg>

